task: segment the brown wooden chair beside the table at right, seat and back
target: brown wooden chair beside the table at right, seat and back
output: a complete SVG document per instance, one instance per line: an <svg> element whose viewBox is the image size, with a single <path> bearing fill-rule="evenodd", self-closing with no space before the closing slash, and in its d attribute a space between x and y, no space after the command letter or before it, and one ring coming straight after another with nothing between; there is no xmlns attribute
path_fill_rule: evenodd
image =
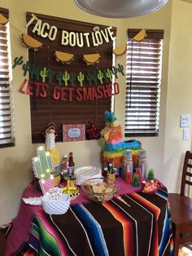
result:
<svg viewBox="0 0 192 256"><path fill-rule="evenodd" d="M169 193L174 256L178 255L180 244L192 241L192 198L185 196L186 187L192 185L190 177L192 177L192 152L186 151L181 178L181 192L180 194Z"/></svg>

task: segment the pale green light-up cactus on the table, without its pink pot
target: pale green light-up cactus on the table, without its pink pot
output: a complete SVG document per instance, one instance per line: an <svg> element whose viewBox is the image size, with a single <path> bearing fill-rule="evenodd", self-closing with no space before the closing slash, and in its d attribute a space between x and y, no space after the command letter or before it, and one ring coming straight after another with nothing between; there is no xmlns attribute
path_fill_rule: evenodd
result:
<svg viewBox="0 0 192 256"><path fill-rule="evenodd" d="M50 178L50 170L52 170L52 160L50 152L46 152L43 146L37 148L37 157L32 159L33 172L37 179Z"/></svg>

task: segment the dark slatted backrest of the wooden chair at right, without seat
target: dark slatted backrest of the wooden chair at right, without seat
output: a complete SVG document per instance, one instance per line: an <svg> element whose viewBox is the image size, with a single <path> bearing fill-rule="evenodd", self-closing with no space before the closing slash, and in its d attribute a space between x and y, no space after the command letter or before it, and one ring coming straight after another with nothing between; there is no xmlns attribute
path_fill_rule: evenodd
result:
<svg viewBox="0 0 192 256"><path fill-rule="evenodd" d="M185 152L185 160L182 170L182 178L181 178L181 192L182 196L185 196L186 185L192 186L192 182L190 181L190 177L192 177L192 152ZM189 195L187 195L189 196Z"/></svg>

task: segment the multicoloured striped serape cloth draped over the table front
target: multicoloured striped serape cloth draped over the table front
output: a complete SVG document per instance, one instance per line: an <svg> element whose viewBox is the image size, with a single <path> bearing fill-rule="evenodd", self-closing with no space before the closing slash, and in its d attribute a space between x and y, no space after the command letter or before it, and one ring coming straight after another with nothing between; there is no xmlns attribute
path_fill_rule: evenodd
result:
<svg viewBox="0 0 192 256"><path fill-rule="evenodd" d="M66 214L34 216L28 243L15 255L172 255L168 193L133 192Z"/></svg>

